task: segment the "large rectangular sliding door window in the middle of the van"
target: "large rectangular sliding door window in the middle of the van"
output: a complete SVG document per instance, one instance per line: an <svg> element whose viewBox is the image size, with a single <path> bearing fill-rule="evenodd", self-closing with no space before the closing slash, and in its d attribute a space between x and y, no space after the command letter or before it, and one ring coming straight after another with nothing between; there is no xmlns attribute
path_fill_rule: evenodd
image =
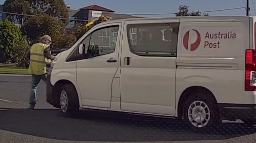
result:
<svg viewBox="0 0 256 143"><path fill-rule="evenodd" d="M139 56L176 56L179 23L129 24L130 51Z"/></svg>

